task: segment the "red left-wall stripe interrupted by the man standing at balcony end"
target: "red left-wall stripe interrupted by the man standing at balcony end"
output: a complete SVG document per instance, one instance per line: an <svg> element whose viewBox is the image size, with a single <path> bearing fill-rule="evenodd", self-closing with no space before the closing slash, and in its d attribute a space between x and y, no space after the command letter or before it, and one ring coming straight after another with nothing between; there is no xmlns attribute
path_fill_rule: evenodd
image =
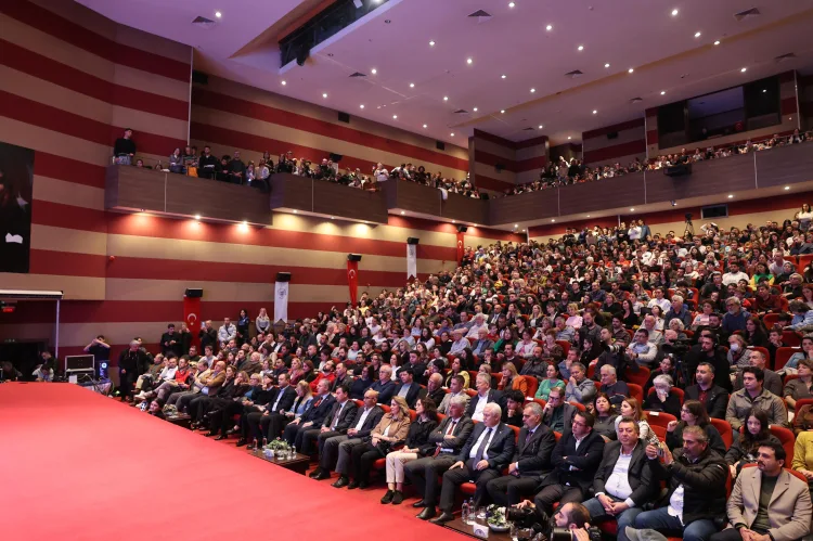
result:
<svg viewBox="0 0 813 541"><path fill-rule="evenodd" d="M35 102L17 94L0 90L0 115L40 128L59 131L66 136L113 146L124 127L108 126L51 105ZM186 141L155 133L137 132L133 141L139 153L169 156L177 146L183 149ZM111 155L113 149L111 149Z"/></svg>

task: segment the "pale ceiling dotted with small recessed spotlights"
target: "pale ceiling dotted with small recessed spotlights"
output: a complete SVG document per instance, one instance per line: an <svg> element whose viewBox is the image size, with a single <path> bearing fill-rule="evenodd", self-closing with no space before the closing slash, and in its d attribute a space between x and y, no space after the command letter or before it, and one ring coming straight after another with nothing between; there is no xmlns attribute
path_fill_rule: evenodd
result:
<svg viewBox="0 0 813 541"><path fill-rule="evenodd" d="M305 66L280 66L276 43L330 1L78 1L194 47L195 67L211 75L462 146L475 128L575 142L648 107L813 68L813 0L388 0ZM751 8L761 15L734 17ZM478 10L491 16L468 16ZM197 15L218 24L194 27ZM583 75L565 76L576 69Z"/></svg>

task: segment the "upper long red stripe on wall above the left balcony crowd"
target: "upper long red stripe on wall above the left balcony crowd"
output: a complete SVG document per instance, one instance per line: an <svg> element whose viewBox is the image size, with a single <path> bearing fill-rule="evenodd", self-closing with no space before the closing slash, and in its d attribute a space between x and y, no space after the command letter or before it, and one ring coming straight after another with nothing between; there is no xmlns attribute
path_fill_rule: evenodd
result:
<svg viewBox="0 0 813 541"><path fill-rule="evenodd" d="M418 162L417 165L421 165L420 162L428 162L430 164L451 167L462 171L468 170L468 160L466 159L456 158L454 156L449 156L447 154L441 154L428 149L422 149L420 146L402 143L400 141L372 133L365 133L353 128L318 120L297 113L221 94L199 87L193 87L192 89L192 103L194 105L201 105L216 111L222 111L288 128L305 130L319 136L338 139L340 141L376 149L383 152L409 156L412 160ZM326 152L331 152L331 150L328 149Z"/></svg>

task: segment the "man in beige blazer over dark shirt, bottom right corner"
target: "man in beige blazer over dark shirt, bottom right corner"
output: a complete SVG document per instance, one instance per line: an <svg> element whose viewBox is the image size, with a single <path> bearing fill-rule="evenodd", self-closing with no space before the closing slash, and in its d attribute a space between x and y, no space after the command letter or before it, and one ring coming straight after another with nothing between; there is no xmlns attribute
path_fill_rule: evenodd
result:
<svg viewBox="0 0 813 541"><path fill-rule="evenodd" d="M785 448L764 441L757 467L743 468L728 498L730 527L711 541L793 541L810 533L808 484L786 472Z"/></svg>

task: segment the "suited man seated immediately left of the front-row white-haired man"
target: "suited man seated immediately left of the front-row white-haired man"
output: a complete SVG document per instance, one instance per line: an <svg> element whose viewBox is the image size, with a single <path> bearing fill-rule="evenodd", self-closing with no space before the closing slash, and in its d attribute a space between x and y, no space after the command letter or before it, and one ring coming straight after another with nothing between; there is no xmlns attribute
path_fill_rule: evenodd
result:
<svg viewBox="0 0 813 541"><path fill-rule="evenodd" d="M463 409L466 401L460 397L452 399L449 405L449 416L440 423L429 435L429 440L422 449L425 458L408 463L404 474L415 486L421 500L413 503L413 507L424 507L417 514L422 520L435 518L435 501L438 495L438 476L449 469L456 462L461 449L474 430L474 423ZM424 452L425 451L425 452Z"/></svg>

